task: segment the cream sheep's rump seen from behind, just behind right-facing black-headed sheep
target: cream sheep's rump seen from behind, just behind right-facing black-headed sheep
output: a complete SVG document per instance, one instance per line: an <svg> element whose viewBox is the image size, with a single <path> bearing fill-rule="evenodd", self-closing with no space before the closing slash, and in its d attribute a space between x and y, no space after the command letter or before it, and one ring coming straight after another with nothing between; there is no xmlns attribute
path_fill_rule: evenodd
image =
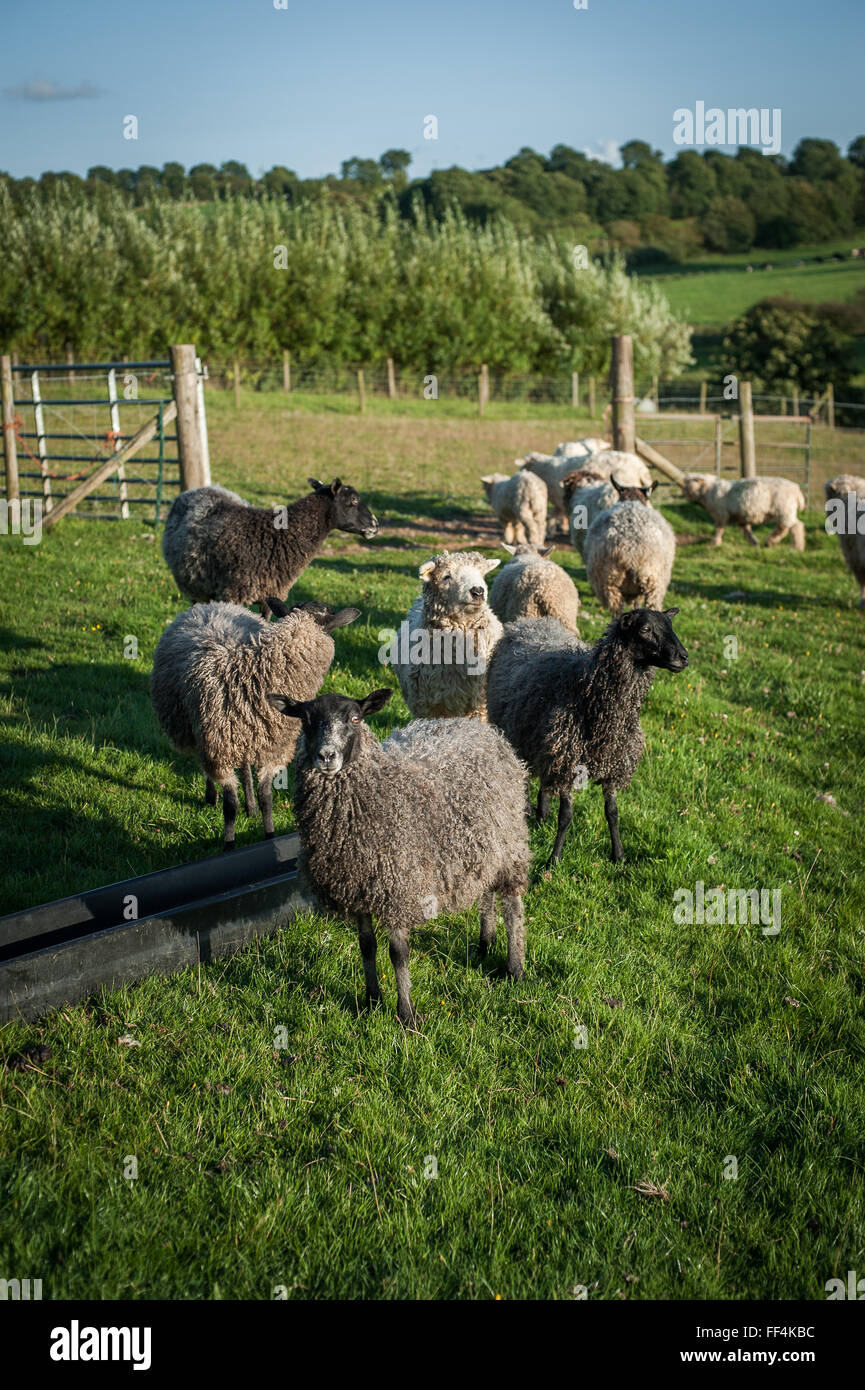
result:
<svg viewBox="0 0 865 1390"><path fill-rule="evenodd" d="M659 609L673 573L676 535L648 499L617 502L590 525L583 557L592 594L613 617L640 599Z"/></svg>

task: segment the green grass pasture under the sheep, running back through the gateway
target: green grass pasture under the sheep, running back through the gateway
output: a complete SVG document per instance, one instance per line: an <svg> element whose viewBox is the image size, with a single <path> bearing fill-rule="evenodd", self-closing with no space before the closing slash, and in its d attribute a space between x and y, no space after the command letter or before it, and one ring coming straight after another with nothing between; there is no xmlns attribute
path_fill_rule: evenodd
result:
<svg viewBox="0 0 865 1390"><path fill-rule="evenodd" d="M384 517L373 543L332 537L293 591L363 610L327 681L348 694L396 684L377 632L430 553L496 550L478 475L588 432L267 399L209 399L214 475L271 502L339 471ZM659 505L691 666L659 674L644 712L626 866L590 790L562 865L534 876L520 984L502 942L480 963L474 912L416 933L417 1034L387 952L387 1006L367 1016L355 933L313 915L1 1029L1 1273L42 1277L45 1298L822 1300L862 1269L855 585L818 512L795 555L734 534L711 549L702 512L672 489ZM595 638L579 556L558 557ZM1 539L0 910L217 851L221 813L147 698L184 606L140 523ZM374 726L406 719L396 696ZM291 795L275 801L285 831ZM538 863L551 844L533 830ZM698 881L780 891L780 931L676 924Z"/></svg>

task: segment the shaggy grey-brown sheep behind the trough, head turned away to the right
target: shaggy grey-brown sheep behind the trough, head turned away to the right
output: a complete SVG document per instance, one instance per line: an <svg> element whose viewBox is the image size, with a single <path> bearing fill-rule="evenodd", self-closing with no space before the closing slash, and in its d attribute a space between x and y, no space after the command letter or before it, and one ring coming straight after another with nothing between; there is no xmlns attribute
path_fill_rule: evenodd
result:
<svg viewBox="0 0 865 1390"><path fill-rule="evenodd" d="M316 695L334 660L335 627L360 617L325 603L286 609L268 599L277 623L235 603L196 603L165 628L153 657L150 699L163 733L181 752L193 752L207 780L207 802L223 788L223 848L234 848L238 816L235 767L243 769L246 810L252 774L259 773L264 838L274 834L273 778L295 756L300 733L266 702L274 685L298 699Z"/></svg>

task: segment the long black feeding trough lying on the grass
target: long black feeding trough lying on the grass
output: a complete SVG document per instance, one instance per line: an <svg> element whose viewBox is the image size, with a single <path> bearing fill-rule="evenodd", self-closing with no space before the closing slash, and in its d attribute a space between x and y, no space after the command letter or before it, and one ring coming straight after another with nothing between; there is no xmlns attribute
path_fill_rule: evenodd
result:
<svg viewBox="0 0 865 1390"><path fill-rule="evenodd" d="M0 1023L231 955L275 931L312 906L298 851L296 834L280 835L0 917Z"/></svg>

